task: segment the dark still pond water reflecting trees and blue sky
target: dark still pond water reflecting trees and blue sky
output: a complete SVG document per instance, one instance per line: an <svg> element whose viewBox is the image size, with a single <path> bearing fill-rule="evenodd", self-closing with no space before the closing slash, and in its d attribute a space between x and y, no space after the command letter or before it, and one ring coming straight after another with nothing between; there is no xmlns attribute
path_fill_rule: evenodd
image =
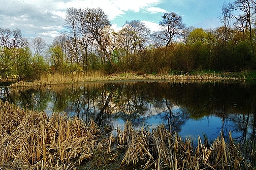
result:
<svg viewBox="0 0 256 170"><path fill-rule="evenodd" d="M98 82L2 88L0 98L22 108L65 112L116 129L127 120L134 128L163 123L183 138L211 140L221 132L237 142L256 139L256 85L241 82Z"/></svg>

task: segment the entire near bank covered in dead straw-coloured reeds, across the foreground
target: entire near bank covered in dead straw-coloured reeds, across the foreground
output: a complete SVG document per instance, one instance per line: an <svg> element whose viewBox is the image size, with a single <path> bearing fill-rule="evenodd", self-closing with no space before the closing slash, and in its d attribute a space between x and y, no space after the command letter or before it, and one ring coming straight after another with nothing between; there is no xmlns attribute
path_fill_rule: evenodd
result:
<svg viewBox="0 0 256 170"><path fill-rule="evenodd" d="M129 122L117 136L94 120L65 113L48 117L0 102L0 169L226 169L255 167L255 148L245 150L222 136L213 142L198 137L193 146L163 125L134 130ZM250 142L249 142L250 143Z"/></svg>

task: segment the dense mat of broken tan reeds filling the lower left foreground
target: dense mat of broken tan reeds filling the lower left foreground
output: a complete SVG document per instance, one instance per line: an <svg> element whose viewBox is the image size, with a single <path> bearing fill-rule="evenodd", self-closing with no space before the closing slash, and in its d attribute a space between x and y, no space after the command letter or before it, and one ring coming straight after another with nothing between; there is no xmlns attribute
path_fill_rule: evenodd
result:
<svg viewBox="0 0 256 170"><path fill-rule="evenodd" d="M62 113L49 118L0 102L0 169L71 169L109 142L98 142L99 135L92 119L85 123Z"/></svg>

